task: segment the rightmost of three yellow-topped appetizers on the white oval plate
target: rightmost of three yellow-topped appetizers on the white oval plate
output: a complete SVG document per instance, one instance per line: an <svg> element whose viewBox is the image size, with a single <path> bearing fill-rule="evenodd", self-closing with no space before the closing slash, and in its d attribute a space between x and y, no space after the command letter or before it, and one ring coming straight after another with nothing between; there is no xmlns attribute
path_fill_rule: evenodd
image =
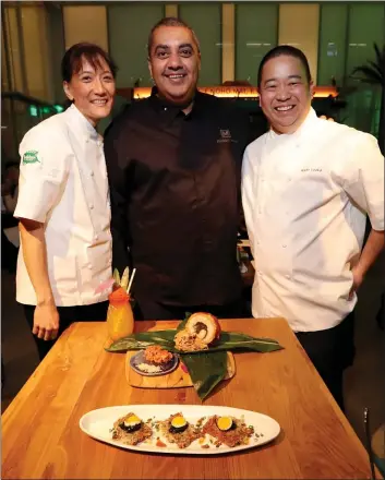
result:
<svg viewBox="0 0 385 480"><path fill-rule="evenodd" d="M225 444L229 447L248 445L250 437L254 434L253 427L246 427L243 420L234 417L209 417L203 425L202 432L216 439L219 446Z"/></svg>

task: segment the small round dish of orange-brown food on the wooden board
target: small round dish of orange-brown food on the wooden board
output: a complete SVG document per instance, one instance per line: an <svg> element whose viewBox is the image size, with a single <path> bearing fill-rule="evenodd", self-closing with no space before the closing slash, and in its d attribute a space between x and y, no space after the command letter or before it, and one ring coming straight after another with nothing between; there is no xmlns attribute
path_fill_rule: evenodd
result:
<svg viewBox="0 0 385 480"><path fill-rule="evenodd" d="M130 359L132 370L143 376L167 375L179 364L179 357L161 347L154 345L140 350Z"/></svg>

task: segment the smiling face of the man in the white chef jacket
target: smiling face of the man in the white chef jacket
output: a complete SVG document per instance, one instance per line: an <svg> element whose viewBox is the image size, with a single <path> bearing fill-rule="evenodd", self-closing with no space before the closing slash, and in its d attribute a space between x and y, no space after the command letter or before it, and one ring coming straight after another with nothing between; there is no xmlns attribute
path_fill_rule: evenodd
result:
<svg viewBox="0 0 385 480"><path fill-rule="evenodd" d="M311 107L313 84L296 57L281 55L263 67L261 107L278 133L294 132L306 118Z"/></svg>

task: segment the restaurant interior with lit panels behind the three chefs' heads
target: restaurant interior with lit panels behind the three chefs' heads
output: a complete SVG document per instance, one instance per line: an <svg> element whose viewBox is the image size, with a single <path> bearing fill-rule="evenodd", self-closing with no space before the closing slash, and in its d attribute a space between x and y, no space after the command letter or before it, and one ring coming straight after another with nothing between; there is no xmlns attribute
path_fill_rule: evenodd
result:
<svg viewBox="0 0 385 480"><path fill-rule="evenodd" d="M107 49L117 64L113 113L131 100L134 86L151 86L146 43L165 15L180 16L196 32L202 50L201 86L237 82L255 86L262 57L278 44L299 46L318 86L338 91L338 100L316 99L322 113L377 134L381 85L352 76L375 60L373 44L385 44L384 2L73 2L3 1L2 155L17 157L24 133L62 109L60 61L71 45L88 40ZM362 75L361 75L362 76ZM237 100L237 99L234 99ZM266 128L256 98L248 108L255 133ZM103 122L101 130L109 123Z"/></svg>

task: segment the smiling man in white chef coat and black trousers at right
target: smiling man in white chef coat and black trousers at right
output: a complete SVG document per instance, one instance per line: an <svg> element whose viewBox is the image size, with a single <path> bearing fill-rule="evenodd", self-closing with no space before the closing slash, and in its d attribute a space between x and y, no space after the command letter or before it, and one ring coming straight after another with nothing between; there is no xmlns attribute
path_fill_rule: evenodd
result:
<svg viewBox="0 0 385 480"><path fill-rule="evenodd" d="M270 130L248 146L242 167L253 316L288 320L344 409L356 291L384 248L384 158L372 135L316 117L301 50L270 50L258 91Z"/></svg>

